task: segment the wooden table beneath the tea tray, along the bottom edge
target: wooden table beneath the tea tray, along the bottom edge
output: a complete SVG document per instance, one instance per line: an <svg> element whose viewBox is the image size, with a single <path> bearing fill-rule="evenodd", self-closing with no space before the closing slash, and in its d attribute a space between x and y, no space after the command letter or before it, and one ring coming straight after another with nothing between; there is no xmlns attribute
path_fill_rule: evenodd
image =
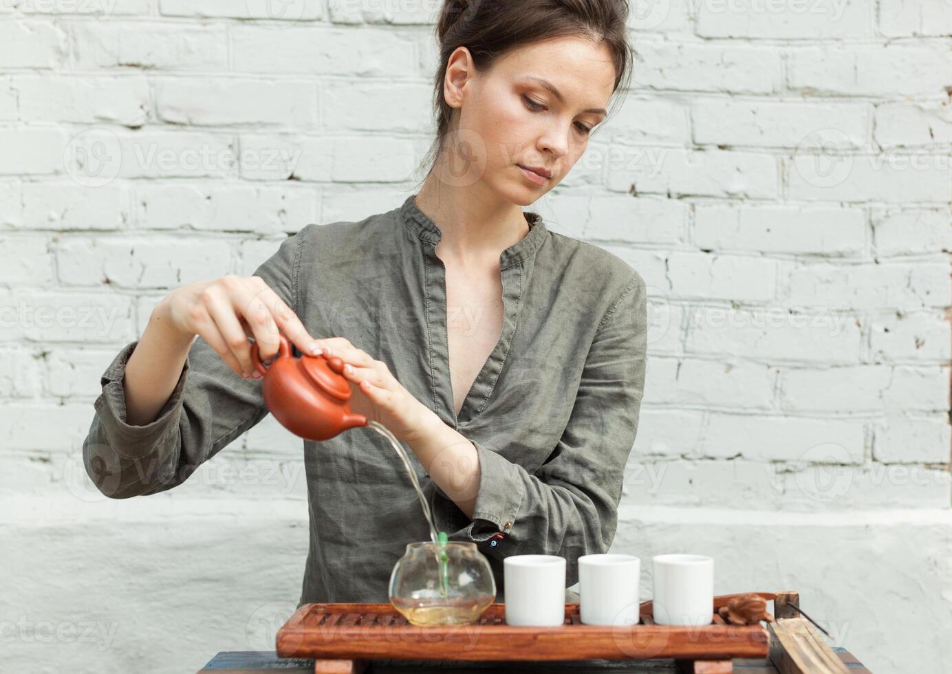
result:
<svg viewBox="0 0 952 674"><path fill-rule="evenodd" d="M833 648L840 656L843 664L849 669L850 674L870 674L862 663L850 654L845 648ZM738 674L777 674L777 668L767 659L744 658L733 661L735 671ZM450 663L441 666L424 666L420 662L404 662L392 660L372 661L367 674L379 674L380 672L417 672L419 674L486 674L487 672L500 672L501 674L596 674L600 672L614 672L617 674L626 674L627 672L652 672L653 674L662 674L663 672L677 672L674 661L672 660L616 660L616 661L574 661L566 663L547 662L547 663ZM214 674L268 674L268 672L280 672L281 674L313 674L314 662L312 660L293 660L278 658L272 651L222 651L215 655L204 668L199 672L213 672Z"/></svg>

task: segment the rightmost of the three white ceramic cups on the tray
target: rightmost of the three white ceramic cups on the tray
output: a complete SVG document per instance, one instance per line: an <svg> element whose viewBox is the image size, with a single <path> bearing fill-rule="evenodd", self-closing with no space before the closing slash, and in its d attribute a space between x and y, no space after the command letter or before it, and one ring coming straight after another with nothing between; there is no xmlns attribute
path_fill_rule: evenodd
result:
<svg viewBox="0 0 952 674"><path fill-rule="evenodd" d="M714 620L714 560L704 555L651 558L656 624L704 625Z"/></svg>

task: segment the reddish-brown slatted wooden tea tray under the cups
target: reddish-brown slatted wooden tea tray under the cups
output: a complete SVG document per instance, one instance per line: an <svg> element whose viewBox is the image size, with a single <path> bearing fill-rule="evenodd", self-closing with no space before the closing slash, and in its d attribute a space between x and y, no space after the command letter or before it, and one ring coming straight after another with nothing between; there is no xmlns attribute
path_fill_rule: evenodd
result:
<svg viewBox="0 0 952 674"><path fill-rule="evenodd" d="M755 594L774 600L778 611L783 605L787 613L792 613L786 604L799 605L795 592ZM477 624L428 627L409 624L390 604L305 604L278 630L276 647L282 658L315 659L314 671L326 673L361 672L367 661L375 659L498 662L663 658L674 659L683 671L720 674L733 671L733 658L768 655L771 659L786 658L787 666L781 671L800 671L783 644L772 644L772 639L776 641L775 629L768 632L760 623L724 623L717 609L737 596L715 597L711 623L700 627L654 624L651 602L640 606L640 624L624 627L583 624L578 603L565 604L565 623L557 627L506 624L506 605L502 603L486 608ZM823 647L828 649L822 644L815 645L814 650L820 652Z"/></svg>

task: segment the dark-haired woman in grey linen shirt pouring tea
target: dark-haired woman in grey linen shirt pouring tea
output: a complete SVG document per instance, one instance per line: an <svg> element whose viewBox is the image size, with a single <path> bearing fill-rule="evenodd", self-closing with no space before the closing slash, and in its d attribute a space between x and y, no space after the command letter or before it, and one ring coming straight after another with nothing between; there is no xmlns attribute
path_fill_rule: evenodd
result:
<svg viewBox="0 0 952 674"><path fill-rule="evenodd" d="M522 206L585 151L629 70L624 0L447 2L423 187L359 222L308 225L254 276L177 288L103 375L84 445L113 498L183 483L267 413L248 338L340 356L352 406L409 446L436 525L503 559L614 538L645 379L645 283ZM534 169L534 170L530 170ZM197 340L194 340L195 336ZM313 335L322 335L314 339ZM428 528L384 438L305 442L300 602L387 602Z"/></svg>

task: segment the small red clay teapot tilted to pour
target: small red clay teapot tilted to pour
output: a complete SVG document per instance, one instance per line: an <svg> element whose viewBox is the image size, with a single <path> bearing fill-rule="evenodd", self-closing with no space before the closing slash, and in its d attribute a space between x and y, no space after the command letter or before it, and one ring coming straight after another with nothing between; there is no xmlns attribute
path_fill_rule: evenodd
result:
<svg viewBox="0 0 952 674"><path fill-rule="evenodd" d="M278 422L306 440L332 438L348 428L367 426L367 417L350 411L350 383L344 361L323 355L291 355L285 335L279 335L277 357L266 366L258 343L251 345L251 361L262 375L265 405Z"/></svg>

